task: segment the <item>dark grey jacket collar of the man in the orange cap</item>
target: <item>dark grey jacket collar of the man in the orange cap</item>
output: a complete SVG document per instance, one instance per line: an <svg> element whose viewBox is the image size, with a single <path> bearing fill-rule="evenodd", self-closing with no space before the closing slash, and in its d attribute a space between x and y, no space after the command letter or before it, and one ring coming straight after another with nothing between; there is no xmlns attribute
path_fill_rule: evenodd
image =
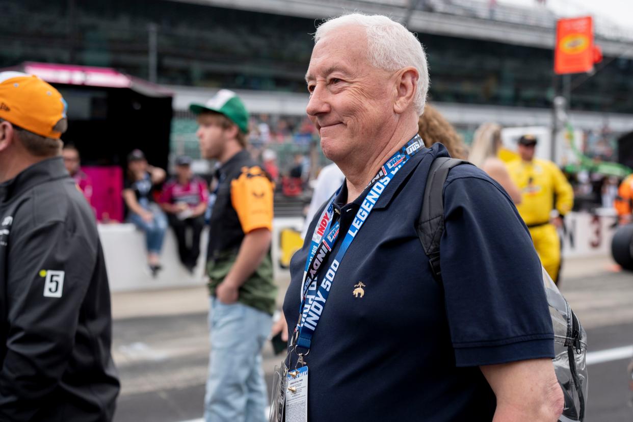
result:
<svg viewBox="0 0 633 422"><path fill-rule="evenodd" d="M28 166L11 180L0 183L0 202L7 202L12 197L41 183L64 177L70 177L70 175L66 171L61 156L44 159Z"/></svg>

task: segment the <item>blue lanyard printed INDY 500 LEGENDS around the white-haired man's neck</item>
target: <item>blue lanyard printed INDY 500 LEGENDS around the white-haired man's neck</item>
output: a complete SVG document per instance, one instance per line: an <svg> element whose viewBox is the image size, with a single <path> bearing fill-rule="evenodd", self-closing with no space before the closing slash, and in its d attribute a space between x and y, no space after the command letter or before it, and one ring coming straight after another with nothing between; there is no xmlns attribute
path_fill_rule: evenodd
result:
<svg viewBox="0 0 633 422"><path fill-rule="evenodd" d="M415 135L413 139L407 142L406 145L387 160L380 168L378 174L369 183L367 187L371 186L371 189L367 192L367 195L365 195L365 199L360 209L358 209L356 217L342 240L339 251L334 257L332 264L330 264L330 268L325 273L321 285L317 289L316 279L318 278L318 273L321 272L319 271L321 269L320 266L327 259L329 252L332 251L332 247L334 247L339 235L340 223L337 221L332 225L332 218L334 216L334 199L338 196L341 188L330 198L329 203L323 210L318 220L319 224L316 226L315 232L312 235L310 252L306 259L303 286L301 289L300 318L295 328L295 333L298 335L296 347L306 349L306 352L301 353L300 356L305 356L310 351L312 336L316 330L316 325L318 325L323 307L325 307L325 302L330 294L334 277L339 270L341 261L348 251L349 246L361 227L363 227L365 221L367 221L369 214L372 212L382 192L384 192L387 185L389 185L389 182L391 182L396 173L398 173L398 170L400 170L413 155L422 149L422 145L420 135ZM327 233L327 235L325 233ZM315 293L310 294L310 292Z"/></svg>

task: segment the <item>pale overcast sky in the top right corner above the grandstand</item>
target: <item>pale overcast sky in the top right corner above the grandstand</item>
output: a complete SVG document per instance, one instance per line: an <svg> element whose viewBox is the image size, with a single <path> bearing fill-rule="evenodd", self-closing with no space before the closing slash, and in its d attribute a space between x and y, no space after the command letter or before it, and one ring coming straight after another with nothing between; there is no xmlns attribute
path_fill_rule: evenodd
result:
<svg viewBox="0 0 633 422"><path fill-rule="evenodd" d="M498 3L535 6L536 0L498 0ZM633 30L633 0L546 0L546 6L561 16L599 15Z"/></svg>

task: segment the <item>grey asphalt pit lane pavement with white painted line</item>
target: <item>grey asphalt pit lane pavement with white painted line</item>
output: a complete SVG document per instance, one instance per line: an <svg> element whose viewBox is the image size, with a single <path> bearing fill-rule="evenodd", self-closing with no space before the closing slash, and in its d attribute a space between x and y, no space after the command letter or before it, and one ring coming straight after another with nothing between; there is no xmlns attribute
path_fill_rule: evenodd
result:
<svg viewBox="0 0 633 422"><path fill-rule="evenodd" d="M586 422L630 422L633 274L618 272L608 258L568 260L563 270L561 290L589 338ZM122 380L116 422L201 418L207 307L204 287L113 294L113 354ZM270 378L279 357L268 345L263 354Z"/></svg>

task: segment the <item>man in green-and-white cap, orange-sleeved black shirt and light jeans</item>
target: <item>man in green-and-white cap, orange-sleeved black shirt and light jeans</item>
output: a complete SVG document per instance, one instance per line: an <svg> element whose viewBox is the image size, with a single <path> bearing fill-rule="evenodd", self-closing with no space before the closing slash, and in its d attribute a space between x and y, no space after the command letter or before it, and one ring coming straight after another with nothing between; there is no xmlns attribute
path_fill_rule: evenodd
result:
<svg viewBox="0 0 633 422"><path fill-rule="evenodd" d="M248 112L235 92L222 89L190 109L202 156L220 164L207 249L211 352L204 419L265 421L261 348L277 297L270 258L274 185L245 149Z"/></svg>

